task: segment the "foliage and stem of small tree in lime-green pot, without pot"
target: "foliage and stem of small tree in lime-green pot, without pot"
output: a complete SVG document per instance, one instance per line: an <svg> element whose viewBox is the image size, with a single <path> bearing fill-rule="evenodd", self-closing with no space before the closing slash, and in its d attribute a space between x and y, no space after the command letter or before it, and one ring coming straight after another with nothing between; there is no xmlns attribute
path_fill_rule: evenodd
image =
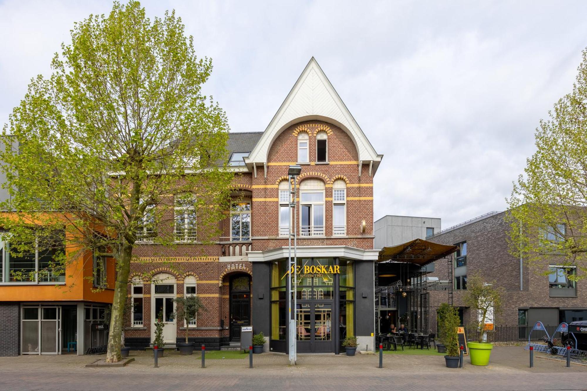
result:
<svg viewBox="0 0 587 391"><path fill-rule="evenodd" d="M495 321L503 309L505 289L497 286L495 281L485 282L480 274L468 276L467 293L463 296L463 304L473 311L473 326L479 333L478 342L483 342L485 322L488 319Z"/></svg>

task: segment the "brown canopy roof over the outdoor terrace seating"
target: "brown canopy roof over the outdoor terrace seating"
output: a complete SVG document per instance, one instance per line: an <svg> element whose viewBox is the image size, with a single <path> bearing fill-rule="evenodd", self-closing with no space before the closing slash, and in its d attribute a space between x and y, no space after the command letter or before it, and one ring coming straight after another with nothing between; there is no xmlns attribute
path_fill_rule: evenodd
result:
<svg viewBox="0 0 587 391"><path fill-rule="evenodd" d="M457 250L457 246L438 244L423 239L414 239L393 247L383 247L377 262L394 261L426 266Z"/></svg>

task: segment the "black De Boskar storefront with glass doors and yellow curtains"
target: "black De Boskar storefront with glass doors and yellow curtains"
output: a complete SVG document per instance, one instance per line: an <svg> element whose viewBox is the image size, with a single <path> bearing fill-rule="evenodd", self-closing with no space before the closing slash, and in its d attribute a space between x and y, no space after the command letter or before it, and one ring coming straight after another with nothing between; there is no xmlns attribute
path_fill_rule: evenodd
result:
<svg viewBox="0 0 587 391"><path fill-rule="evenodd" d="M373 346L370 342L374 328L373 261L311 257L306 256L311 254L310 251L303 252L302 256L298 255L296 264L295 336L298 353L339 353L346 336L357 336L365 347ZM252 264L253 331L262 331L268 336L266 350L287 352L288 259L263 262L253 259Z"/></svg>

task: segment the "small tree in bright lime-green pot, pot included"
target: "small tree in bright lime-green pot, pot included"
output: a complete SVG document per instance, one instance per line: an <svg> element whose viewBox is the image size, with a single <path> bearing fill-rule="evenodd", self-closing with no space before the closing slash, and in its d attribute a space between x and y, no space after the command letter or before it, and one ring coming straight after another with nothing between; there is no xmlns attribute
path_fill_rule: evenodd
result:
<svg viewBox="0 0 587 391"><path fill-rule="evenodd" d="M495 285L495 281L487 283L479 274L470 275L468 278L467 294L463 297L463 302L471 308L474 315L477 315L471 326L477 329L479 335L477 342L467 343L472 365L489 363L493 344L487 342L485 323L488 320L494 321L495 316L501 313L504 295L504 288Z"/></svg>

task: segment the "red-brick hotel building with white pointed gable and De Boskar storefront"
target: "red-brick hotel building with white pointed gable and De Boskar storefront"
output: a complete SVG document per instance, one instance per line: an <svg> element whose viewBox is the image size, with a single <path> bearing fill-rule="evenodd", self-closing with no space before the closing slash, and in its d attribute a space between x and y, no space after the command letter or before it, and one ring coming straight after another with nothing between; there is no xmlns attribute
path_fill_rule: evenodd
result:
<svg viewBox="0 0 587 391"><path fill-rule="evenodd" d="M168 306L173 306L174 297L195 293L207 308L190 326L190 341L196 346L228 346L239 340L241 326L252 325L254 332L268 337L266 350L285 351L285 278L276 273L286 262L293 218L299 264L333 266L346 273L305 276L309 285L299 295L308 312L301 311L298 319L299 343L309 351L338 352L340 339L352 332L372 346L377 257L373 175L382 156L375 153L318 63L311 59L265 132L231 133L228 149L236 173L235 202L218 223L222 236L207 245L196 240L178 242L174 248L147 242L135 247L127 346L149 346L155 315L172 312ZM294 164L302 172L296 178L296 207L291 208L288 168ZM313 285L322 282L324 286ZM342 299L341 283L349 292ZM355 295L357 284L363 288L360 298ZM368 321L362 311L369 314ZM166 321L166 343L181 342L185 326L172 317Z"/></svg>

